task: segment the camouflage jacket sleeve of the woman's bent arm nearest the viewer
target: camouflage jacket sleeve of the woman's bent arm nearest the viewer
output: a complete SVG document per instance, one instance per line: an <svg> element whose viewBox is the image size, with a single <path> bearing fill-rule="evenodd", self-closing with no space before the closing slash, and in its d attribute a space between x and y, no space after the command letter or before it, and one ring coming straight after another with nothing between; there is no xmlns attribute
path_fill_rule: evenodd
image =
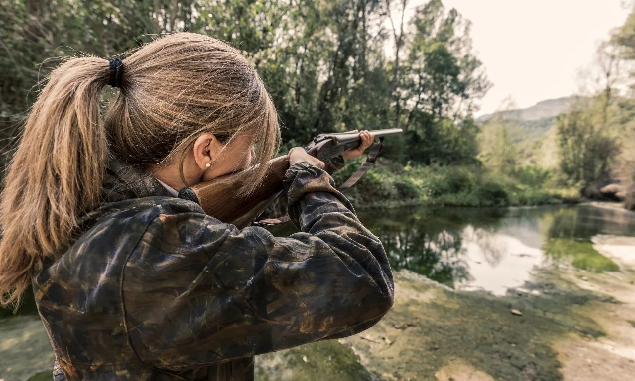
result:
<svg viewBox="0 0 635 381"><path fill-rule="evenodd" d="M198 212L152 219L121 283L130 342L144 363L178 370L345 337L389 311L384 247L333 179L300 162L284 186L301 231L288 238Z"/></svg>

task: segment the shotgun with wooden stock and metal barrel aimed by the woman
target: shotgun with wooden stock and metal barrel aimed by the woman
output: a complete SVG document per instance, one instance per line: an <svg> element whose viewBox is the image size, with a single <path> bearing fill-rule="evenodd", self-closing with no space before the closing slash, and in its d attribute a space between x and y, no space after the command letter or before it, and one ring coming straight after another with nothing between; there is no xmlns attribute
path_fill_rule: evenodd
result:
<svg viewBox="0 0 635 381"><path fill-rule="evenodd" d="M375 138L403 132L400 128L380 129L368 131ZM328 160L342 155L347 150L359 145L359 131L338 132L333 134L319 134L306 146L304 150L319 160ZM232 179L234 174L220 176L211 181L182 188L178 192L179 198L199 203L206 214L219 221L244 228L249 226L284 190L283 179L289 169L287 155L269 160L265 178L249 197L237 199L233 190L242 184ZM244 169L249 171L250 169Z"/></svg>

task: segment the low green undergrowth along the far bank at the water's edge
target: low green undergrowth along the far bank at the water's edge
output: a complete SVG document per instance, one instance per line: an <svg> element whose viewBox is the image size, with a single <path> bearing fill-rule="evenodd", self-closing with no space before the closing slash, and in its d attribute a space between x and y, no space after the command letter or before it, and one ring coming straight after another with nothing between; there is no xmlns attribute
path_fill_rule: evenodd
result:
<svg viewBox="0 0 635 381"><path fill-rule="evenodd" d="M333 176L349 178L361 159L350 160ZM400 165L378 160L349 191L358 209L410 205L508 207L556 205L582 201L574 188L554 185L547 172L525 171L516 178L494 174L478 165Z"/></svg>

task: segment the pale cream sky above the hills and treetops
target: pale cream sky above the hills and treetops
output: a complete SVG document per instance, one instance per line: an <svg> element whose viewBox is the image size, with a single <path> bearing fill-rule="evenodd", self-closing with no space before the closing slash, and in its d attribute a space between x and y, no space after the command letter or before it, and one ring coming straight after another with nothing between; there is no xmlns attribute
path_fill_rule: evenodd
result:
<svg viewBox="0 0 635 381"><path fill-rule="evenodd" d="M410 13L425 0L411 1ZM474 51L493 83L476 115L511 96L518 107L573 94L598 44L624 23L624 0L443 0L472 21ZM393 13L394 15L394 13Z"/></svg>

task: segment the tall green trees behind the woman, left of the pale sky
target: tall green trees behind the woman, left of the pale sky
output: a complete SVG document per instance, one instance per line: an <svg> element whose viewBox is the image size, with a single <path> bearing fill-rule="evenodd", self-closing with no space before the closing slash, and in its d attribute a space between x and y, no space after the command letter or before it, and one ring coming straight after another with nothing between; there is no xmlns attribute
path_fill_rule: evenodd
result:
<svg viewBox="0 0 635 381"><path fill-rule="evenodd" d="M490 85L472 52L469 21L439 0L404 25L401 61L385 54L395 41L385 32L391 2L380 0L0 1L0 139L18 134L35 100L30 90L58 62L44 60L76 51L119 55L188 30L223 39L252 61L287 148L319 132L404 127L410 135L389 139L386 150L403 163L476 161L471 105Z"/></svg>

